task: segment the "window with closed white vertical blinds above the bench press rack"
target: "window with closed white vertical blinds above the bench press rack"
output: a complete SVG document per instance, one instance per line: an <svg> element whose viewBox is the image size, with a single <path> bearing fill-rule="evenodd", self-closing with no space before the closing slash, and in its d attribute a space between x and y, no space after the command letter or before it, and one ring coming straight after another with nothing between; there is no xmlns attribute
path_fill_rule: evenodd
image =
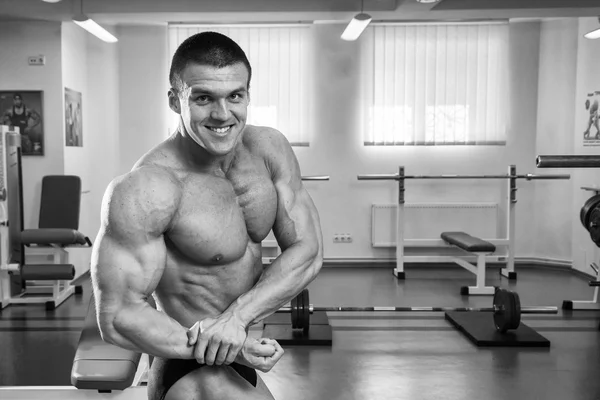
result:
<svg viewBox="0 0 600 400"><path fill-rule="evenodd" d="M504 145L508 24L373 25L361 41L365 145Z"/></svg>

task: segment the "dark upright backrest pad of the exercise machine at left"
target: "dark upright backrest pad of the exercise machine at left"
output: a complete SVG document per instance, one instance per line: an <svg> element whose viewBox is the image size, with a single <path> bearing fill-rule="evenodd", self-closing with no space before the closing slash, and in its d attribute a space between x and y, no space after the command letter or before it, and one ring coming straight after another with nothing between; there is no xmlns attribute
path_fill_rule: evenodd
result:
<svg viewBox="0 0 600 400"><path fill-rule="evenodd" d="M79 229L81 178L47 175L42 179L40 229Z"/></svg>

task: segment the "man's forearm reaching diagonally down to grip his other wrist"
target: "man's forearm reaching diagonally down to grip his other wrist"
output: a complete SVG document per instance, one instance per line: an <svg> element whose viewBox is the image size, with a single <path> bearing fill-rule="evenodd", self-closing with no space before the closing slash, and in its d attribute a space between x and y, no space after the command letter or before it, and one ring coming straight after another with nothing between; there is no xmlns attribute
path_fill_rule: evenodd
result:
<svg viewBox="0 0 600 400"><path fill-rule="evenodd" d="M273 314L306 287L319 273L321 253L301 244L287 248L263 271L252 289L234 301L225 312L237 315L250 326Z"/></svg>

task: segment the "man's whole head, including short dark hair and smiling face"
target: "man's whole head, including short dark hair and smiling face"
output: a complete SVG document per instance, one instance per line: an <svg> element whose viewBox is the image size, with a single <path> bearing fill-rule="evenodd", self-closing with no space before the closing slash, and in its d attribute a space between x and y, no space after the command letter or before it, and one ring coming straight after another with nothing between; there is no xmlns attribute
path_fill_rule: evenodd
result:
<svg viewBox="0 0 600 400"><path fill-rule="evenodd" d="M204 32L186 39L173 56L169 105L185 133L215 156L230 153L246 125L251 68L230 38Z"/></svg>

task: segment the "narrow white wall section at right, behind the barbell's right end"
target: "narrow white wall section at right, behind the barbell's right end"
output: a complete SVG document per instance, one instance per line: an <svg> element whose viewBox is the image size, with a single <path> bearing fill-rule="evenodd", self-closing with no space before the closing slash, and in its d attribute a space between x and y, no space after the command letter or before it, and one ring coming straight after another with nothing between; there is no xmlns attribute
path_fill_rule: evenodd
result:
<svg viewBox="0 0 600 400"><path fill-rule="evenodd" d="M537 98L536 154L572 154L578 20L542 23ZM570 174L568 169L540 169L541 174ZM539 181L534 218L536 253L545 258L572 259L573 182Z"/></svg>

